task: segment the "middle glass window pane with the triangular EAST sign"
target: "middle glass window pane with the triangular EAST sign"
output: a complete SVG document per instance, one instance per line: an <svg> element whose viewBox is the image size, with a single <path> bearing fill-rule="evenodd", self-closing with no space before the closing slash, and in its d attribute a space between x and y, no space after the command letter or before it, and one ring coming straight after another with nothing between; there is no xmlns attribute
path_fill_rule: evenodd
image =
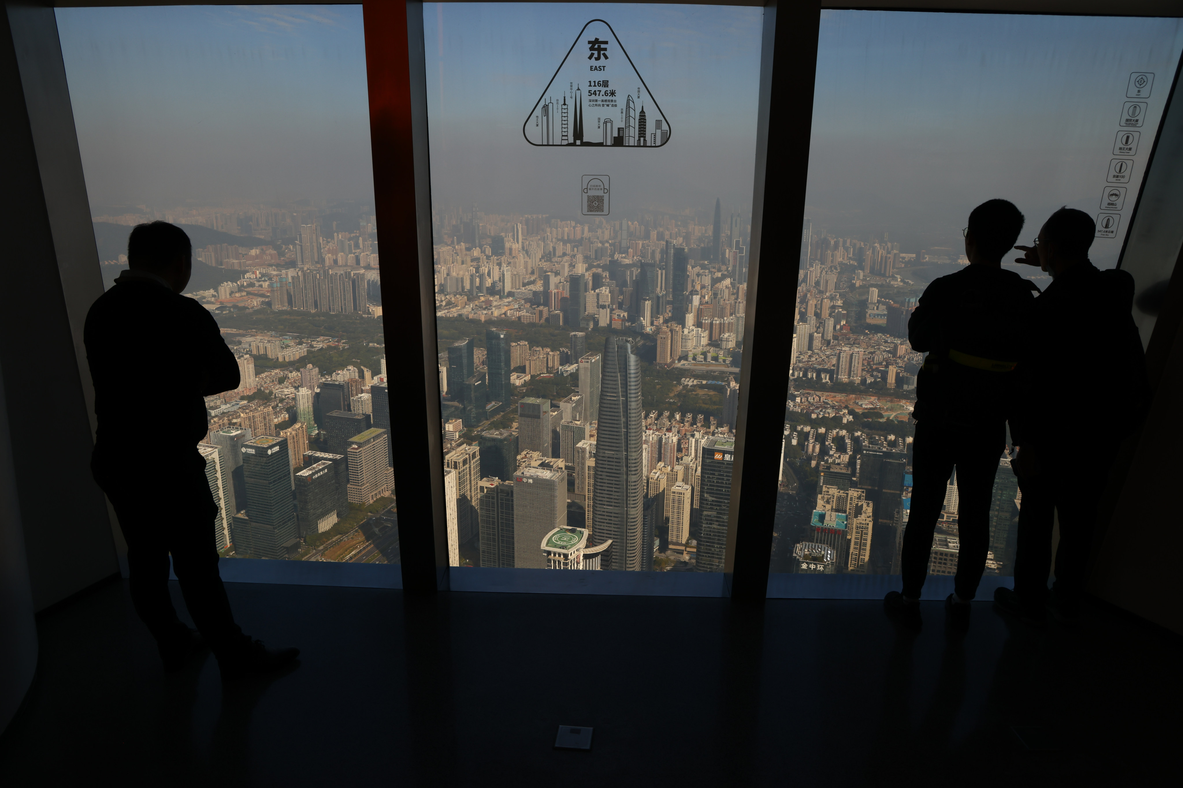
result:
<svg viewBox="0 0 1183 788"><path fill-rule="evenodd" d="M761 9L424 15L450 562L720 572Z"/></svg>

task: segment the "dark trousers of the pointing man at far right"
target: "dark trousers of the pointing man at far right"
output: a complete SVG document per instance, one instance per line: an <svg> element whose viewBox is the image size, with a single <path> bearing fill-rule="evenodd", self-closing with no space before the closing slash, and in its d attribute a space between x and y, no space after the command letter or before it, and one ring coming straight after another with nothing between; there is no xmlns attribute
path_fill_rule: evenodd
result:
<svg viewBox="0 0 1183 788"><path fill-rule="evenodd" d="M1108 476L1110 462L1084 448L1054 455L1045 452L1037 475L1020 476L1023 499L1019 509L1015 591L1024 606L1041 611L1047 604L1053 515L1059 513L1055 604L1065 614L1079 613L1097 528L1097 496Z"/></svg>

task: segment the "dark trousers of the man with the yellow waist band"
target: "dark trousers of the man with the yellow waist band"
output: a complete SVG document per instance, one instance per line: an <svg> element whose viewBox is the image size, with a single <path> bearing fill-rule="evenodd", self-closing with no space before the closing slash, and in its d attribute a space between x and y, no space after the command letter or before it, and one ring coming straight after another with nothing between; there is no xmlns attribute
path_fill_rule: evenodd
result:
<svg viewBox="0 0 1183 788"><path fill-rule="evenodd" d="M917 422L912 444L912 509L904 530L900 566L904 595L919 599L929 574L932 534L945 502L945 486L957 468L957 575L953 588L962 599L972 599L985 571L990 548L990 496L998 457L1006 448L1002 422L982 426L958 426L930 421Z"/></svg>

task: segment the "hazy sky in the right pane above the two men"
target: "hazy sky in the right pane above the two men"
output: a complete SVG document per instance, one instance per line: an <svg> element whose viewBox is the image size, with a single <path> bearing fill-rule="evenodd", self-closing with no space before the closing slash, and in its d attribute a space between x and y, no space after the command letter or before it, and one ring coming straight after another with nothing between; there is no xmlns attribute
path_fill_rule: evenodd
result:
<svg viewBox="0 0 1183 788"><path fill-rule="evenodd" d="M916 245L959 245L991 197L1024 236L1062 204L1095 215L1130 74L1149 71L1129 216L1181 44L1177 19L823 12L807 214ZM1094 260L1116 262L1120 230Z"/></svg>

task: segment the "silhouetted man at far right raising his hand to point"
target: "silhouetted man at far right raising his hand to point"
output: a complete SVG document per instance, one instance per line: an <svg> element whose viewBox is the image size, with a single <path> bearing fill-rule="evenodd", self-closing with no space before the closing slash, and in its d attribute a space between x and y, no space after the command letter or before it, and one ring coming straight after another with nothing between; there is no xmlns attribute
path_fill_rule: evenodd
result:
<svg viewBox="0 0 1183 788"><path fill-rule="evenodd" d="M994 599L1004 612L1036 624L1046 619L1054 512L1060 515L1060 545L1052 610L1067 621L1080 613L1097 499L1113 462L1111 450L1097 448L1091 429L1097 413L1081 393L1081 373L1104 364L1125 391L1132 417L1116 430L1106 423L1106 439L1132 431L1149 398L1132 314L1133 278L1090 262L1095 232L1092 216L1061 208L1040 229L1035 246L1015 247L1024 253L1016 262L1039 266L1052 284L1035 300L1029 347L1020 366L1022 406L1010 425L1019 447L1013 467L1023 496L1015 588L998 588Z"/></svg>

